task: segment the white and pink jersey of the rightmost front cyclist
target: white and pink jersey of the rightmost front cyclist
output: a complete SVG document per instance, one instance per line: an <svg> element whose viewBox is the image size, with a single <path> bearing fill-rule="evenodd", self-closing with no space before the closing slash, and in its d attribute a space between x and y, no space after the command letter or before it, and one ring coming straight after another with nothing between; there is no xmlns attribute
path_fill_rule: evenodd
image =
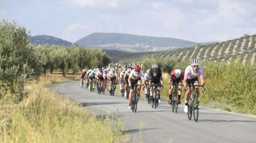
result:
<svg viewBox="0 0 256 143"><path fill-rule="evenodd" d="M195 79L195 78L197 78L198 75L200 76L200 79L204 78L203 68L199 66L197 71L194 72L193 67L191 65L189 65L185 69L184 80Z"/></svg>

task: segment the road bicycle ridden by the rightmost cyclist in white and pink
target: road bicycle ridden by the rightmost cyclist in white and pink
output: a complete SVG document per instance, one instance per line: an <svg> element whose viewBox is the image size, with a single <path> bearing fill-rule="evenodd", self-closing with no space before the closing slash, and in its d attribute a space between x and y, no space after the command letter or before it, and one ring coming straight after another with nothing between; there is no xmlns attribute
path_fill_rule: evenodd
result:
<svg viewBox="0 0 256 143"><path fill-rule="evenodd" d="M187 117L188 120L191 120L192 117L192 112L193 112L193 116L194 116L194 120L195 122L197 122L198 120L198 114L199 114L199 101L198 101L198 97L197 97L197 93L196 93L196 86L201 86L202 85L188 85L188 87L193 87L193 91L191 92L191 88L189 88L190 93L189 93L189 99L188 99L188 107L187 107Z"/></svg>

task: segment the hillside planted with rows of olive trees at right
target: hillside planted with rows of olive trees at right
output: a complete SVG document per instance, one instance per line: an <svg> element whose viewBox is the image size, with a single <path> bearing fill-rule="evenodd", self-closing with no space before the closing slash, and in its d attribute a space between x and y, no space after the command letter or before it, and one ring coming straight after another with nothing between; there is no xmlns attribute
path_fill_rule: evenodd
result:
<svg viewBox="0 0 256 143"><path fill-rule="evenodd" d="M108 53L107 53L108 54ZM237 39L222 41L218 43L212 43L207 45L195 45L186 47L183 49L170 50L164 52L156 53L140 53L137 55L138 58L144 56L154 55L156 57L177 57L181 59L205 59L210 61L226 62L229 63L231 60L237 59L238 56L242 58L243 63L251 62L252 64L256 62L256 34L252 36L244 36ZM119 54L114 54L110 56L115 60L125 60L125 59L135 59L129 56L130 54L122 53L120 57ZM117 58L119 57L119 58Z"/></svg>

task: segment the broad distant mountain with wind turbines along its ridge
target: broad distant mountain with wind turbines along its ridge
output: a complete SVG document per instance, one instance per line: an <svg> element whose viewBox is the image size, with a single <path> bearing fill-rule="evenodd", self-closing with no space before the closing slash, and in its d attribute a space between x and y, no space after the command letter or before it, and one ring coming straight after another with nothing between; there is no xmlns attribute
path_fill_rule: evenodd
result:
<svg viewBox="0 0 256 143"><path fill-rule="evenodd" d="M153 52L196 45L176 38L138 36L123 33L93 33L75 42L86 47L129 52Z"/></svg>

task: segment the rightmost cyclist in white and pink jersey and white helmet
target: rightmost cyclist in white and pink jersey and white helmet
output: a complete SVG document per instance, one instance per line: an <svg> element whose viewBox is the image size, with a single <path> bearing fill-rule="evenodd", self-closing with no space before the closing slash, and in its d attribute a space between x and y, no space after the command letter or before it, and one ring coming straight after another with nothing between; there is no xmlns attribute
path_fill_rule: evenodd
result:
<svg viewBox="0 0 256 143"><path fill-rule="evenodd" d="M183 85L185 88L185 106L184 106L184 112L187 113L187 102L188 102L188 95L190 93L190 90L187 85L189 85L190 83L193 85L199 85L199 81L198 81L198 75L200 76L201 79L201 85L202 90L205 90L204 87L204 74L203 74L203 68L199 66L199 61L197 59L193 59L190 63L190 65L188 65L185 69L185 74L184 74L184 80L183 80ZM198 101L199 101L199 89L198 86L195 87L196 89L196 93L198 95ZM199 106L200 108L200 106Z"/></svg>

